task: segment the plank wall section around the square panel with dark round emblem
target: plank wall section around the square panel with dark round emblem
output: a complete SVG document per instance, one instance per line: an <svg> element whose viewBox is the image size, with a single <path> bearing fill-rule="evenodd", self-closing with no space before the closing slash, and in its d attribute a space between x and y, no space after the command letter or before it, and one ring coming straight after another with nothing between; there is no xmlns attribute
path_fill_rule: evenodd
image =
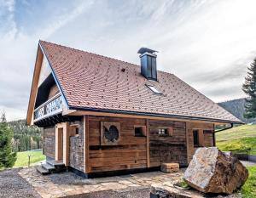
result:
<svg viewBox="0 0 256 198"><path fill-rule="evenodd" d="M118 145L101 145L101 122L120 123ZM89 116L90 173L147 167L147 139L134 136L135 125L146 126L146 120Z"/></svg>

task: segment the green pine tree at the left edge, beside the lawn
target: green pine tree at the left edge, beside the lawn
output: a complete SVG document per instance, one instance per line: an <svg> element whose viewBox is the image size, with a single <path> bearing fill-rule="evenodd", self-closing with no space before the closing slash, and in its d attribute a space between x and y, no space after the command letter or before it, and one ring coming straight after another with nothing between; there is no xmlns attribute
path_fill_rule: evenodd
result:
<svg viewBox="0 0 256 198"><path fill-rule="evenodd" d="M17 159L17 154L12 151L13 130L6 122L5 113L0 120L0 168L13 167Z"/></svg>

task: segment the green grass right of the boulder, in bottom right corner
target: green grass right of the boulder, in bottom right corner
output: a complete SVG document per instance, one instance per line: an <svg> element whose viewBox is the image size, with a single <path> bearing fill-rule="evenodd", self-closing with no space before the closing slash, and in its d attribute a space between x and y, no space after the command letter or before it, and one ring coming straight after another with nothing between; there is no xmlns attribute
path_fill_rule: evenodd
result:
<svg viewBox="0 0 256 198"><path fill-rule="evenodd" d="M241 195L245 198L253 198L256 197L256 166L247 167L247 169L249 171L249 178L241 188Z"/></svg>

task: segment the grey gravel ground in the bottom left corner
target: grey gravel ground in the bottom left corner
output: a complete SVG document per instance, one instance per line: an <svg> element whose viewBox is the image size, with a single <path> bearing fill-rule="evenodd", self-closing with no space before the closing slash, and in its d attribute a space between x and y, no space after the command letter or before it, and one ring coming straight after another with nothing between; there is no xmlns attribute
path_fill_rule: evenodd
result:
<svg viewBox="0 0 256 198"><path fill-rule="evenodd" d="M18 174L19 168L0 171L0 198L39 198L32 186Z"/></svg>

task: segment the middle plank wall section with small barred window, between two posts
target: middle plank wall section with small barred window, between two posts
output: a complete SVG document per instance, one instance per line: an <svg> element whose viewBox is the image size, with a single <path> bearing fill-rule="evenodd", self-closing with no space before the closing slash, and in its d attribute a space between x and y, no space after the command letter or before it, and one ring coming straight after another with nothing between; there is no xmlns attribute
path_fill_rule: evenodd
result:
<svg viewBox="0 0 256 198"><path fill-rule="evenodd" d="M173 127L173 134L161 137L154 127ZM162 162L187 165L185 122L149 120L149 132L150 167L159 167Z"/></svg>

